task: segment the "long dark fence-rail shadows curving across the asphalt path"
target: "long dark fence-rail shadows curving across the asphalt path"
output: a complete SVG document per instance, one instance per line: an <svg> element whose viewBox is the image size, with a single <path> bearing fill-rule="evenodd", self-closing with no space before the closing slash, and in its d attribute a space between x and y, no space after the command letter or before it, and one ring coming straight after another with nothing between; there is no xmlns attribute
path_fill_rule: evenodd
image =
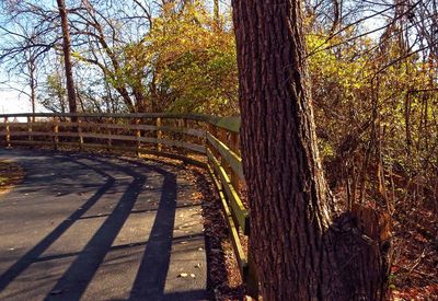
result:
<svg viewBox="0 0 438 301"><path fill-rule="evenodd" d="M47 153L46 153L47 154ZM135 213L134 206L137 201L142 187L147 182L148 172L155 172L163 178L161 187L160 201L158 204L155 218L149 235L149 240L143 243L137 243L136 246L145 245L140 267L135 277L130 290L129 300L206 300L208 299L206 290L192 290L175 293L164 293L165 280L170 265L172 251L173 229L175 222L177 182L176 175L153 164L148 165L139 162L128 162L130 166L122 166L114 163L112 159L104 160L93 155L61 155L57 159L68 160L79 164L82 169L89 169L105 178L102 186L74 212L58 224L49 234L25 253L10 268L0 275L0 292L4 290L16 277L26 270L32 264L37 262L50 261L59 257L76 256L73 262L57 280L50 292L59 291L58 294L48 293L45 300L80 300L99 267L104 262L106 254L116 248L131 247L129 245L113 246L113 243L131 213ZM100 167L85 164L79 160L90 160L99 162L108 167L103 171ZM132 165L135 164L135 169ZM141 170L141 172L136 172ZM124 190L120 199L113 210L105 215L105 221L95 231L91 240L81 252L49 255L42 257L66 231L76 222L85 218L88 212L103 195L115 186L116 178L107 171L123 172L132 177L132 181ZM82 170L83 172L83 170ZM35 188L37 185L35 185ZM73 189L73 188L72 188ZM66 192L69 193L69 192ZM65 292L65 293L62 293Z"/></svg>

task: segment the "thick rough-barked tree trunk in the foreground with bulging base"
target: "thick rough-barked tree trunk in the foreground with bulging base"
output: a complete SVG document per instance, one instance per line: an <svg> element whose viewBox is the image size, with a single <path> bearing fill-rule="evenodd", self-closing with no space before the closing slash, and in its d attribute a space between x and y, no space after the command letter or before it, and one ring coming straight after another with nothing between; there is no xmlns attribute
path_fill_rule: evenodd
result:
<svg viewBox="0 0 438 301"><path fill-rule="evenodd" d="M356 218L333 213L300 1L234 0L233 19L250 239L264 300L384 299L389 247L387 229L376 230L380 216L360 206Z"/></svg>

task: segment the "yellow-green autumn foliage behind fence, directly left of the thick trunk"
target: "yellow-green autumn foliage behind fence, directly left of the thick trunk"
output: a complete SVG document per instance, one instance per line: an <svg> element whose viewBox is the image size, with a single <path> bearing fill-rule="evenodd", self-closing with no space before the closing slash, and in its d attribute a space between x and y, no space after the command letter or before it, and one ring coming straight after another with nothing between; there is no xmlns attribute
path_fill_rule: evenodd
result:
<svg viewBox="0 0 438 301"><path fill-rule="evenodd" d="M124 49L130 65L124 70L150 66L157 86L171 93L172 102L163 109L235 114L238 72L231 19L222 16L221 25L229 30L219 30L200 1L175 9L174 4L164 7L141 45Z"/></svg>

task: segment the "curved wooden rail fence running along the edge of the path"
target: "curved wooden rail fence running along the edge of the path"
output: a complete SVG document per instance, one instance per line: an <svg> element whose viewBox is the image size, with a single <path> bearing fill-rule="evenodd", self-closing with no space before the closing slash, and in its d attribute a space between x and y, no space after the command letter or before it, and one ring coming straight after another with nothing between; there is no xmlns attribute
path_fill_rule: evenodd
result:
<svg viewBox="0 0 438 301"><path fill-rule="evenodd" d="M243 247L247 245L250 216L242 202L239 126L239 117L198 114L0 114L0 144L157 154L208 169L219 192L242 280L249 294L257 297L251 252Z"/></svg>

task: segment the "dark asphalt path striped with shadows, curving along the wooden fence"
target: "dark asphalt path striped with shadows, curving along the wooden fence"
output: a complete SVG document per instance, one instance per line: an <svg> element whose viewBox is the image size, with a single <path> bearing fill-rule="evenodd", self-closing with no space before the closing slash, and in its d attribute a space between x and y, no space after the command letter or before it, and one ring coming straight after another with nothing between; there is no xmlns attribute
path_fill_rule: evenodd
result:
<svg viewBox="0 0 438 301"><path fill-rule="evenodd" d="M189 172L51 151L0 159L25 171L0 196L0 300L209 299Z"/></svg>

